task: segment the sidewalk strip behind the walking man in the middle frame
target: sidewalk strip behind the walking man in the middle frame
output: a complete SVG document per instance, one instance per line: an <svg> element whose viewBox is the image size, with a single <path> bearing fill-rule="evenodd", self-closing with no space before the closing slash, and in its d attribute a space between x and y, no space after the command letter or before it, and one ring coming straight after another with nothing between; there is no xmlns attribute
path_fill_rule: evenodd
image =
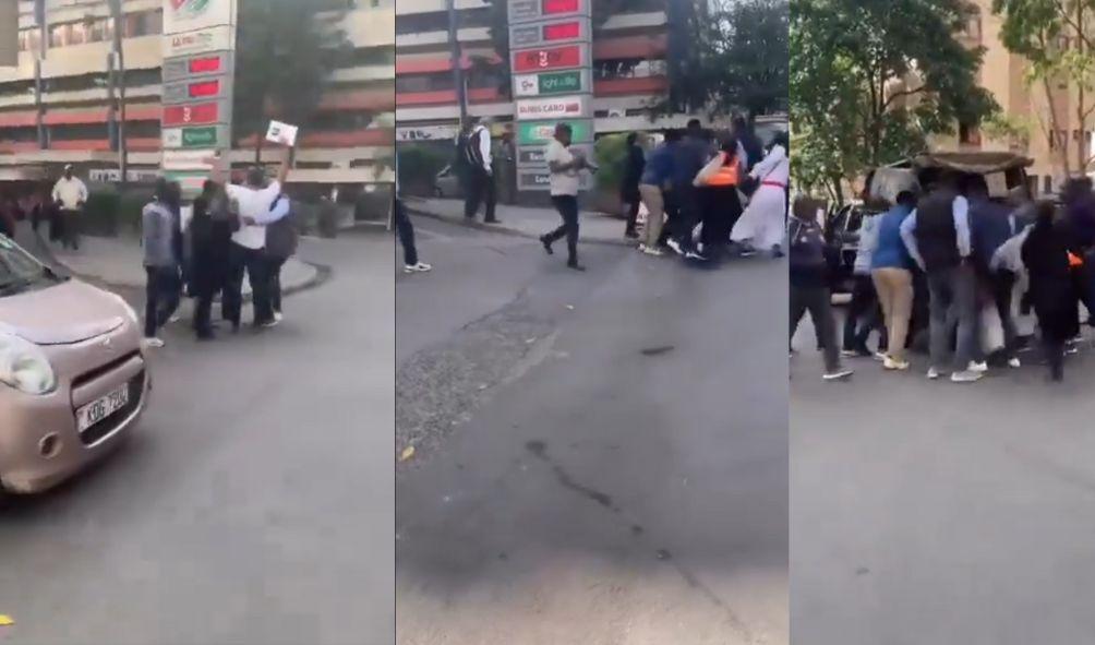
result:
<svg viewBox="0 0 1095 645"><path fill-rule="evenodd" d="M404 199L407 210L414 215L431 217L449 223L470 228L497 231L525 238L539 238L563 223L558 212L550 207L508 206L499 204L495 215L502 220L497 224L483 222L483 208L479 217L472 221L464 218L462 199L426 199L407 197ZM620 244L633 246L636 242L623 237L624 221L584 210L580 218L581 241L589 244Z"/></svg>

